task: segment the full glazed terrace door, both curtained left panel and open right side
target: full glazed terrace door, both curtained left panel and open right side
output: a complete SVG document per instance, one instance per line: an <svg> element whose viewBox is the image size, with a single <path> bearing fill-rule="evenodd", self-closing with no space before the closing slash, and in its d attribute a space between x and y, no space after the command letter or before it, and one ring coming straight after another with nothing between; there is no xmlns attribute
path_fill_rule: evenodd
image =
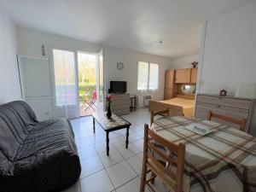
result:
<svg viewBox="0 0 256 192"><path fill-rule="evenodd" d="M52 49L53 113L67 119L103 111L104 61L97 54Z"/></svg>

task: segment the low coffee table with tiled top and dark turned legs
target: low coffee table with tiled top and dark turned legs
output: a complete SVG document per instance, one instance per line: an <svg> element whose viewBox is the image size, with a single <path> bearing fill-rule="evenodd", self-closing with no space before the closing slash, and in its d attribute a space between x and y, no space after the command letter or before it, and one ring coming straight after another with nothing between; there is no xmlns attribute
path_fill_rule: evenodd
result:
<svg viewBox="0 0 256 192"><path fill-rule="evenodd" d="M109 132L117 131L126 128L126 142L125 148L128 148L128 137L129 137L129 128L131 123L124 118L119 117L118 115L112 113L112 118L108 119L106 113L92 113L93 117L93 132L95 133L95 121L101 125L102 129L106 132L106 142L107 142L107 155L109 154Z"/></svg>

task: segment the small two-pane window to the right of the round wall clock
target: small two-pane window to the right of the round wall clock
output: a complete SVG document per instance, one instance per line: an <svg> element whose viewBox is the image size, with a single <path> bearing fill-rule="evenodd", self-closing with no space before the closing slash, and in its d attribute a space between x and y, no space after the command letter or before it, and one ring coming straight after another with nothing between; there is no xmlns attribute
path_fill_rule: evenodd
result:
<svg viewBox="0 0 256 192"><path fill-rule="evenodd" d="M138 62L137 90L158 90L158 64Z"/></svg>

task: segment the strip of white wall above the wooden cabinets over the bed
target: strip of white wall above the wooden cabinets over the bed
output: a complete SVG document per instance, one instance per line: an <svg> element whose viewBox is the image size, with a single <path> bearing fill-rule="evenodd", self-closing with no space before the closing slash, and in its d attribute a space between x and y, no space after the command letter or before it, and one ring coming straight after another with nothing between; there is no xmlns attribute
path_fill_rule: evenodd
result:
<svg viewBox="0 0 256 192"><path fill-rule="evenodd" d="M189 55L183 57L174 57L171 60L171 67L172 69L177 68L191 68L191 62L199 61L199 55Z"/></svg>

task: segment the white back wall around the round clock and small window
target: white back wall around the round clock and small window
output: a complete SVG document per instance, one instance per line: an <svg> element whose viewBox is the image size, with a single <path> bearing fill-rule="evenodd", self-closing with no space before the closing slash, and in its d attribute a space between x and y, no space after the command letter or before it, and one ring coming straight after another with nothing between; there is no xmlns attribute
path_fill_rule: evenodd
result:
<svg viewBox="0 0 256 192"><path fill-rule="evenodd" d="M139 103L143 104L143 95L151 95L154 100L162 100L164 97L165 71L170 68L170 59L155 55L134 52L127 49L106 47L105 49L105 74L109 86L110 80L127 81L127 91L139 96ZM116 64L121 61L125 67L119 71ZM148 61L158 63L160 67L159 90L157 92L137 91L137 62Z"/></svg>

